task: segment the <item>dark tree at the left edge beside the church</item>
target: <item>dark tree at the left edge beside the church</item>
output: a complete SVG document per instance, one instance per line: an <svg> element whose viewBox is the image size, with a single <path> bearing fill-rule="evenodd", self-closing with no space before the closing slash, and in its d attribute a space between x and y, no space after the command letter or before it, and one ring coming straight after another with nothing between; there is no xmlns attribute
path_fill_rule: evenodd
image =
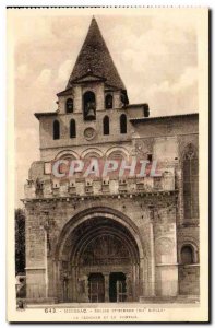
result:
<svg viewBox="0 0 215 328"><path fill-rule="evenodd" d="M25 214L15 210L15 274L25 272Z"/></svg>

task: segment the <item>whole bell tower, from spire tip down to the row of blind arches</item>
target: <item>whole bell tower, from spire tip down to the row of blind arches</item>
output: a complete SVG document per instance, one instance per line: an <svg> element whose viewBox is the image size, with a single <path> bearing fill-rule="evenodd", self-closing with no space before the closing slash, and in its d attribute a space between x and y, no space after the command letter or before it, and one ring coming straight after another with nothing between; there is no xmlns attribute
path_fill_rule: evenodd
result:
<svg viewBox="0 0 215 328"><path fill-rule="evenodd" d="M69 148L76 154L83 148L107 142L128 142L130 119L146 117L146 104L129 104L127 89L118 73L95 17L80 49L65 89L57 94L58 108L35 113L40 125L40 159L50 162ZM79 157L79 155L75 155Z"/></svg>

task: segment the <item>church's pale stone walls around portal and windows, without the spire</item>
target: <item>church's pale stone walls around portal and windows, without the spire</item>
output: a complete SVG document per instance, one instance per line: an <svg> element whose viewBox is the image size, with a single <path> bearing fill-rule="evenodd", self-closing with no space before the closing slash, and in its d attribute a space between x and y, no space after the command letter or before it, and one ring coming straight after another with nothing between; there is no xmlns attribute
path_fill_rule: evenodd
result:
<svg viewBox="0 0 215 328"><path fill-rule="evenodd" d="M95 121L84 121L83 92L96 93ZM27 297L63 300L63 279L74 289L72 274L65 269L67 251L59 258L58 248L64 243L62 233L73 224L73 218L89 209L101 208L126 215L140 235L143 257L140 259L139 296L176 296L199 293L199 218L184 221L182 157L188 144L198 149L198 115L147 118L135 121L142 108L104 109L104 85L92 84L72 91L74 113L64 114L64 103L71 95L59 97L59 114L40 117L41 161L33 163L25 186L26 208L26 277ZM114 103L119 94L114 93ZM136 108L136 109L135 109ZM120 115L128 116L128 132L120 133ZM135 114L136 113L136 114ZM110 134L103 133L103 118L110 118ZM134 120L130 122L129 116ZM60 121L60 140L52 140L52 122ZM70 120L76 121L76 138L69 138ZM86 133L91 129L93 134ZM47 165L53 159L138 156L159 162L162 178L143 180L126 178L57 180ZM104 215L105 214L104 212ZM93 213L92 213L93 218ZM122 220L123 222L123 220ZM130 227L132 231L132 227ZM191 265L181 263L181 247L192 245L195 256ZM68 249L70 245L68 245ZM64 263L64 265L63 265ZM86 284L85 273L81 280ZM69 278L68 278L69 277ZM43 285L43 289L40 288ZM70 291L70 293L71 293ZM70 295L70 297L72 297ZM83 300L87 296L83 294Z"/></svg>

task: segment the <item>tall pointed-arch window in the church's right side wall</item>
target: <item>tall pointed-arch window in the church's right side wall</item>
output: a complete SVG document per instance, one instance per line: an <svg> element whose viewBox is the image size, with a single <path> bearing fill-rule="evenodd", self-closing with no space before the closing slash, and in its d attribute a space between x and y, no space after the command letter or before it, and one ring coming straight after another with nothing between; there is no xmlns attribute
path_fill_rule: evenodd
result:
<svg viewBox="0 0 215 328"><path fill-rule="evenodd" d="M192 144L183 155L183 211L184 219L199 216L199 161Z"/></svg>

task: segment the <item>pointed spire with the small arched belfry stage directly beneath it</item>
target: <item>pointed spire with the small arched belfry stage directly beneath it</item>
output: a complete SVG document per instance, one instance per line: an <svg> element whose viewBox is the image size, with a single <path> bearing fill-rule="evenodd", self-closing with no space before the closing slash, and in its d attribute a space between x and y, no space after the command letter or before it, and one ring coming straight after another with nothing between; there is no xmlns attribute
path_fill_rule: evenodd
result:
<svg viewBox="0 0 215 328"><path fill-rule="evenodd" d="M127 90L115 67L95 17L63 92L58 94L59 112L83 113L96 120L96 112L129 104Z"/></svg>

